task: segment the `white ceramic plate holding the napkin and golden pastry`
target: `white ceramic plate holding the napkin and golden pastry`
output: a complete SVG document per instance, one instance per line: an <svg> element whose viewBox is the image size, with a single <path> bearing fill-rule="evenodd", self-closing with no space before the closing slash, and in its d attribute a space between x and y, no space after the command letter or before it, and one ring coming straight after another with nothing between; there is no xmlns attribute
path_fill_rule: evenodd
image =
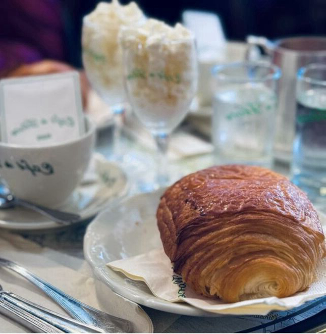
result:
<svg viewBox="0 0 326 334"><path fill-rule="evenodd" d="M161 245L155 214L162 192L132 196L100 213L87 228L85 258L98 279L129 300L170 313L218 317L186 303L155 297L145 283L133 281L106 266L113 260L145 253Z"/></svg>

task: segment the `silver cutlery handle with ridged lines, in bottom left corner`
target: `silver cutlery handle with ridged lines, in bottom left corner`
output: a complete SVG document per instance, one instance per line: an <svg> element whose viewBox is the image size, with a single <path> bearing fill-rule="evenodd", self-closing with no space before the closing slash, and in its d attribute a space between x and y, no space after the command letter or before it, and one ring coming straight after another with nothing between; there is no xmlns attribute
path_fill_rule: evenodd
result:
<svg viewBox="0 0 326 334"><path fill-rule="evenodd" d="M45 309L12 292L4 291L0 285L0 313L29 328L33 332L46 333L103 333L95 326L62 316Z"/></svg>

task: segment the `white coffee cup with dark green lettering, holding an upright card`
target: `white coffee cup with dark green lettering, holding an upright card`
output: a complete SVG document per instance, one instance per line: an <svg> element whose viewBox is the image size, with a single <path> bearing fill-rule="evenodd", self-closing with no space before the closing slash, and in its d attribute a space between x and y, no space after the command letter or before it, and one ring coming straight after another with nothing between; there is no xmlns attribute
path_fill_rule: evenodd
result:
<svg viewBox="0 0 326 334"><path fill-rule="evenodd" d="M83 136L48 146L0 142L0 176L17 197L48 207L65 202L82 180L95 144L95 125L85 116Z"/></svg>

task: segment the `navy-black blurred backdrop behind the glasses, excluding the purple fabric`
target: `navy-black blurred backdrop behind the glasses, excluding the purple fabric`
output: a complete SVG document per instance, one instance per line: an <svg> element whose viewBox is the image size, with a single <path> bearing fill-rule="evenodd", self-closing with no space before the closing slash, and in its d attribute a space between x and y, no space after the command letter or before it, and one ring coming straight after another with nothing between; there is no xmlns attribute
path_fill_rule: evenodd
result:
<svg viewBox="0 0 326 334"><path fill-rule="evenodd" d="M69 40L80 55L82 17L91 12L97 0L64 0L71 16ZM121 0L122 4L130 1ZM270 39L299 35L326 35L326 0L137 0L148 17L175 24L185 9L210 11L219 15L226 37L246 39L261 35ZM73 57L76 59L76 57ZM75 64L77 65L77 64Z"/></svg>

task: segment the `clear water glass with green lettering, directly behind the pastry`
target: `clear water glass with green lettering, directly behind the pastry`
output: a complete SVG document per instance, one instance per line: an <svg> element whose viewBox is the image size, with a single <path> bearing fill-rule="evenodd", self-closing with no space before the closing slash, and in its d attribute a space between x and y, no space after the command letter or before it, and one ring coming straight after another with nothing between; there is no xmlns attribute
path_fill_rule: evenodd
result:
<svg viewBox="0 0 326 334"><path fill-rule="evenodd" d="M216 66L212 73L216 163L270 168L280 69L240 62Z"/></svg>

